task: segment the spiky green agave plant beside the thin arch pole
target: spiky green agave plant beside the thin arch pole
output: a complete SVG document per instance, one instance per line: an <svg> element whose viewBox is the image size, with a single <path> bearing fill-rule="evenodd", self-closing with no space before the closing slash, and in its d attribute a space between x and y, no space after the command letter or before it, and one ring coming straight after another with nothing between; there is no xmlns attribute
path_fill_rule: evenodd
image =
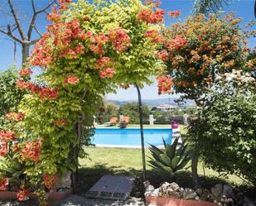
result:
<svg viewBox="0 0 256 206"><path fill-rule="evenodd" d="M172 145L167 144L164 139L162 141L165 147L164 150L150 145L149 150L152 156L148 157L150 159L148 161L149 165L156 170L171 173L171 175L175 175L178 170L188 168L189 166L187 165L191 160L189 146L185 143L178 145L178 138Z"/></svg>

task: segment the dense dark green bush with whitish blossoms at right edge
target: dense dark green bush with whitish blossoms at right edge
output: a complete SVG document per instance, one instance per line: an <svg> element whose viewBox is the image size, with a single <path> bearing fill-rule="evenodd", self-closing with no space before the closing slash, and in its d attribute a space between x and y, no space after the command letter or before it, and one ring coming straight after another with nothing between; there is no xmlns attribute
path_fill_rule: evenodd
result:
<svg viewBox="0 0 256 206"><path fill-rule="evenodd" d="M206 165L256 186L255 79L240 72L225 77L224 84L207 94L189 134Z"/></svg>

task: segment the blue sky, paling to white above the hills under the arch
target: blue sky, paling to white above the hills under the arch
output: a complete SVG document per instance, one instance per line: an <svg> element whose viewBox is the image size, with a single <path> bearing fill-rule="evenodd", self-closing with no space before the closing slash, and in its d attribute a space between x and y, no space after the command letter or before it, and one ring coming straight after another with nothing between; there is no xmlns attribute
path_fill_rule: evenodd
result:
<svg viewBox="0 0 256 206"><path fill-rule="evenodd" d="M30 0L13 0L15 7L17 8L18 15L21 19L23 25L31 19L31 1ZM48 0L35 0L36 8L40 9L45 7ZM193 0L162 0L161 8L166 11L181 10L181 16L179 19L183 21L187 16L191 15L191 9L193 7ZM3 28L7 23L12 24L12 18L7 15L7 13L2 12L7 8L7 0L0 0L0 27ZM225 12L236 12L237 17L242 17L244 19L244 24L249 22L254 18L254 0L234 0L229 6L224 7ZM167 26L171 24L171 19L166 18L165 23ZM46 31L46 25L49 22L46 21L46 15L41 15L38 18L36 26L41 31L41 33ZM27 32L27 28L25 27ZM14 32L15 33L15 32ZM17 35L17 33L16 33ZM34 33L34 38L38 37ZM249 46L256 46L256 39L251 39L249 41ZM21 47L17 46L17 63L18 68L21 66ZM0 34L0 72L7 69L9 66L13 65L13 42L7 39L6 36ZM39 72L37 70L37 72ZM157 83L154 82L151 86L145 85L144 89L141 91L142 99L156 99L156 98L178 98L179 94L171 95L158 95L157 94ZM109 93L107 95L108 99L113 100L135 100L138 98L137 91L133 87L130 89L118 89L117 93Z"/></svg>

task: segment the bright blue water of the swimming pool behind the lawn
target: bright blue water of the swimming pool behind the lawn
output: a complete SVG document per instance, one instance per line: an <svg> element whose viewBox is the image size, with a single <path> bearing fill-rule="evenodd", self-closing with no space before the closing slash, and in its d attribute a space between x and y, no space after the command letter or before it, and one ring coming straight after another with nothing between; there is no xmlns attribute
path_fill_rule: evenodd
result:
<svg viewBox="0 0 256 206"><path fill-rule="evenodd" d="M171 144L171 128L144 128L145 145L161 146L162 137ZM141 146L139 128L97 128L91 142L95 145Z"/></svg>

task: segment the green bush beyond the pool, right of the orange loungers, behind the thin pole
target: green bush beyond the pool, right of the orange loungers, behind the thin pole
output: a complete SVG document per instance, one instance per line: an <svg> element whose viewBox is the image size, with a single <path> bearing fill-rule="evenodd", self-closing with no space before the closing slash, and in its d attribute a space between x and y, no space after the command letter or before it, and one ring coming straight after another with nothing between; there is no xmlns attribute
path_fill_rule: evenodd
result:
<svg viewBox="0 0 256 206"><path fill-rule="evenodd" d="M120 106L118 113L130 117L130 123L139 122L138 103L126 103ZM142 119L144 122L148 120L150 110L147 105L142 105Z"/></svg>

